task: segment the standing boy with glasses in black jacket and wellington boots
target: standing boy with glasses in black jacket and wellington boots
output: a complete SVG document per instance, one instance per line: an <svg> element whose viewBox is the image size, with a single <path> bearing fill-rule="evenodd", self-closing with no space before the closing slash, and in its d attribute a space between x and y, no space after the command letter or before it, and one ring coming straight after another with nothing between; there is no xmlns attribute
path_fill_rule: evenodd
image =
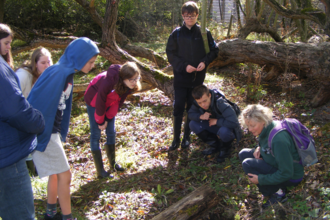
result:
<svg viewBox="0 0 330 220"><path fill-rule="evenodd" d="M202 85L205 79L206 67L217 57L219 49L212 35L207 30L210 52L205 53L201 28L196 24L198 6L188 1L181 8L183 25L176 28L168 38L166 54L173 66L174 73L174 110L173 110L173 142L169 150L175 150L180 145L180 133L183 113L192 105L192 89ZM184 136L181 147L188 148L190 144L189 119L186 117Z"/></svg>

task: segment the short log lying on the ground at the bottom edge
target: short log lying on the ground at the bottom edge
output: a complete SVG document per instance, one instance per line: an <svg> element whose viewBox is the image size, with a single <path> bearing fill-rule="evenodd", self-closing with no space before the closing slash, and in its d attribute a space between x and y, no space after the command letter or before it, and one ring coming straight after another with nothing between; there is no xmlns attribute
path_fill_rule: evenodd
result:
<svg viewBox="0 0 330 220"><path fill-rule="evenodd" d="M205 213L215 207L219 202L216 192L208 185L203 185L188 194L165 211L155 216L152 220L176 219L193 220L201 219Z"/></svg>

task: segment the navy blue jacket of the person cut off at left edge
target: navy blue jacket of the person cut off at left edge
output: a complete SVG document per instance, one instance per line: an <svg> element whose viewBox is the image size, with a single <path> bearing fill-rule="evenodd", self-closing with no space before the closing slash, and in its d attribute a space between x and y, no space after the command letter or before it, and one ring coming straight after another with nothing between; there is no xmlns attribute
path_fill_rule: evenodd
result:
<svg viewBox="0 0 330 220"><path fill-rule="evenodd" d="M15 72L0 56L0 169L31 153L45 122L24 98Z"/></svg>

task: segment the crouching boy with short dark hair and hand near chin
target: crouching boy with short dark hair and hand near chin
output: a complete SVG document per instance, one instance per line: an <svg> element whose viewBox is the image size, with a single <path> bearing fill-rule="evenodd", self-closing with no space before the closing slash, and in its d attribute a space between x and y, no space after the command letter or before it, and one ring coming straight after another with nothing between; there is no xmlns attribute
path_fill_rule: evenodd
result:
<svg viewBox="0 0 330 220"><path fill-rule="evenodd" d="M217 162L224 162L233 140L241 139L236 112L216 89L200 85L193 89L192 96L195 101L188 112L190 128L210 145L211 148L203 151L203 154L220 151Z"/></svg>

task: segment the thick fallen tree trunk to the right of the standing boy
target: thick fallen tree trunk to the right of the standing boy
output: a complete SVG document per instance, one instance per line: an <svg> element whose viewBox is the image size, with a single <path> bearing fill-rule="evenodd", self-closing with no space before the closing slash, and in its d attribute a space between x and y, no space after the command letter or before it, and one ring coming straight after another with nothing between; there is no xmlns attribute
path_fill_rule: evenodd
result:
<svg viewBox="0 0 330 220"><path fill-rule="evenodd" d="M306 43L286 44L233 39L220 42L218 47L218 58L210 67L255 63L260 66L276 66L283 73L287 66L290 72L319 82L320 90L311 102L313 107L320 106L330 99L330 43L328 42L313 46Z"/></svg>

